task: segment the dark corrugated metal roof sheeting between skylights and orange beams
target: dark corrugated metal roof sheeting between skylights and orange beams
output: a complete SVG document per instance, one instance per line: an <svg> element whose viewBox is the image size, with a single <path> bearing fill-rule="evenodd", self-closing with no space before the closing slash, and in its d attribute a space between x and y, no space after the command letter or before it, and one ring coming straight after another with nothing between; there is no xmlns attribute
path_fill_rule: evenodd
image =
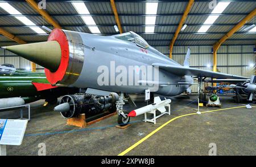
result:
<svg viewBox="0 0 256 167"><path fill-rule="evenodd" d="M100 26L99 29L102 33L116 33L113 25L115 24L115 18L113 15L112 7L110 2L85 2L86 7L88 8L91 14L94 14L92 17L97 25L107 24L108 26ZM120 14L119 19L123 25L123 31L134 31L142 33L144 32L144 27L141 25L145 24L145 10L146 3L144 2L115 2L117 6L118 14ZM22 14L33 14L28 16L32 22L36 25L49 25L46 20L40 16L35 10L33 10L26 2L10 2L10 5L15 7ZM187 2L161 2L158 4L158 16L156 16L156 24L164 25L169 24L169 26L156 26L155 32L160 34L142 34L141 36L145 40L149 40L150 45L155 46L168 46L172 40L173 34L176 31L177 24L179 24L181 16L187 6ZM230 5L223 12L224 15L219 16L219 18L214 22L214 24L233 24L233 25L214 25L209 28L208 32L211 34L195 34L200 28L200 25L188 25L183 33L180 33L177 37L175 45L212 45L217 39L220 39L225 35L234 25L236 25L242 18L254 10L256 7L255 2L231 2ZM46 11L49 15L52 15L52 18L56 20L64 29L71 31L79 32L88 32L89 28L84 25L84 21L80 16L74 16L77 14L77 11L72 6L70 2L47 2ZM196 1L193 3L192 9L189 12L185 24L203 24L208 17L208 14L211 12L209 8L209 2L200 2ZM3 16L7 12L0 10L0 26L6 31L14 34L29 34L35 33L28 27L5 27L4 25L23 25L19 20L13 16ZM106 15L104 15L106 14ZM240 14L240 15L225 15L225 14ZM58 16L56 16L58 15ZM72 16L73 15L73 16ZM255 18L254 18L255 20ZM255 24L253 19L247 22L247 24ZM69 26L65 26L69 25ZM71 26L72 25L72 26ZM80 26L76 26L80 25ZM246 32L245 28L249 25L243 26L239 31ZM52 28L52 26L49 26ZM214 34L214 32L217 32ZM185 34L184 34L185 33ZM47 36L38 36L38 35L23 35L18 36L25 41L46 41ZM227 45L237 45L237 44L250 44L254 45L256 39L256 33L246 34L239 33L234 34L230 39L240 39L240 40L229 40L224 44ZM245 39L245 40L241 40ZM249 40L248 40L249 39ZM203 41L200 41L203 40ZM9 41L9 39L0 36L0 45L3 46L4 43L1 41ZM5 44L10 44L7 42Z"/></svg>

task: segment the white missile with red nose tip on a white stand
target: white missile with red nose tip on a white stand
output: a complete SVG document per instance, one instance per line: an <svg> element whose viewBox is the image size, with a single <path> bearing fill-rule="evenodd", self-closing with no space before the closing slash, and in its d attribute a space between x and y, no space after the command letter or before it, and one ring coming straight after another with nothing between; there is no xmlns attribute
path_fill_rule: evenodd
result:
<svg viewBox="0 0 256 167"><path fill-rule="evenodd" d="M167 104L171 103L171 99L166 99L161 101L160 97L155 97L154 98L154 104L150 104L147 106L143 106L142 108L136 109L136 110L132 110L128 116L129 117L137 117L138 115L147 113L147 112L151 112L152 110L159 110L159 112L164 113L166 112L166 108L164 106L166 106Z"/></svg>

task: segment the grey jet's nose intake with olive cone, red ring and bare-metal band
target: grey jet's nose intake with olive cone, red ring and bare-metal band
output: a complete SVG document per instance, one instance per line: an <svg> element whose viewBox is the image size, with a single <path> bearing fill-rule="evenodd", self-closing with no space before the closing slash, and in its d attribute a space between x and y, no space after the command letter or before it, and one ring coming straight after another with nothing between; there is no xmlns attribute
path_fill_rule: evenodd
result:
<svg viewBox="0 0 256 167"><path fill-rule="evenodd" d="M70 85L80 76L84 47L80 32L53 29L46 42L6 46L5 49L45 67L53 85Z"/></svg>

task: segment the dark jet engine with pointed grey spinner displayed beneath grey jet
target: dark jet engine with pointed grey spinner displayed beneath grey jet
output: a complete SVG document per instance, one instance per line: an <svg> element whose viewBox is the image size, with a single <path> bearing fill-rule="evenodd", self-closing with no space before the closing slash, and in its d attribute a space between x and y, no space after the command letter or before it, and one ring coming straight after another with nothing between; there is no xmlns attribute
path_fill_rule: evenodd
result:
<svg viewBox="0 0 256 167"><path fill-rule="evenodd" d="M75 95L65 95L61 98L60 104L54 108L54 111L68 119L77 117L85 113L86 116L96 115L109 110L115 112L115 102L119 99L117 93L110 93L110 96L89 95L77 93Z"/></svg>

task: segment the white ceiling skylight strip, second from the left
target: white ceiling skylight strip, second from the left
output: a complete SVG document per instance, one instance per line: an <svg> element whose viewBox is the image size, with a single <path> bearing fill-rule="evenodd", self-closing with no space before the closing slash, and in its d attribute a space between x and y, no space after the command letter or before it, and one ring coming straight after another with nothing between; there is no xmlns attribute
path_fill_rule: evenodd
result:
<svg viewBox="0 0 256 167"><path fill-rule="evenodd" d="M80 14L80 15L89 15L90 12L88 10L88 8L85 6L84 2L72 2L72 5L76 8L76 11ZM96 25L96 23L94 22L92 16L81 16L82 20L84 20L84 23L86 25ZM90 29L90 32L92 33L101 33L100 29L98 29L97 26L93 26L93 27L88 27Z"/></svg>

